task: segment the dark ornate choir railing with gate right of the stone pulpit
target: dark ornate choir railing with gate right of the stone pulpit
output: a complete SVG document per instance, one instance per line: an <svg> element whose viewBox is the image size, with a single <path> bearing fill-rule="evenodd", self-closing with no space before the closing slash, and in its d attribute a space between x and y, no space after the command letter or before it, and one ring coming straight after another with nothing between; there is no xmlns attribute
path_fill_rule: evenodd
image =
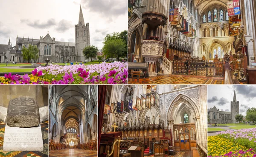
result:
<svg viewBox="0 0 256 157"><path fill-rule="evenodd" d="M223 77L223 62L174 61L173 74Z"/></svg>

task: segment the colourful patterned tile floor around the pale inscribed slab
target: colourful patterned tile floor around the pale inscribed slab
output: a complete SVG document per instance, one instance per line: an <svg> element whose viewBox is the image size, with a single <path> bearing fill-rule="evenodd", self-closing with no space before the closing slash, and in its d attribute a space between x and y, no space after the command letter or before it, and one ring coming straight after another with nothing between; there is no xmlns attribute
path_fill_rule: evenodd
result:
<svg viewBox="0 0 256 157"><path fill-rule="evenodd" d="M0 122L0 157L48 157L48 121L41 123L44 151L3 151L5 126Z"/></svg>

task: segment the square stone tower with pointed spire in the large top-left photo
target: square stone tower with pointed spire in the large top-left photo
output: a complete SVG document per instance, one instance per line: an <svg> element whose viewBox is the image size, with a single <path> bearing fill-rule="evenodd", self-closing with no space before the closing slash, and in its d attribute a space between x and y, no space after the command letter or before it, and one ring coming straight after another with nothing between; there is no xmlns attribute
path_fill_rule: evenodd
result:
<svg viewBox="0 0 256 157"><path fill-rule="evenodd" d="M80 5L79 13L79 22L78 25L75 25L75 36L76 36L76 61L73 62L88 62L88 59L85 59L83 50L85 47L90 46L90 29L89 23L84 24L84 16L82 8Z"/></svg>

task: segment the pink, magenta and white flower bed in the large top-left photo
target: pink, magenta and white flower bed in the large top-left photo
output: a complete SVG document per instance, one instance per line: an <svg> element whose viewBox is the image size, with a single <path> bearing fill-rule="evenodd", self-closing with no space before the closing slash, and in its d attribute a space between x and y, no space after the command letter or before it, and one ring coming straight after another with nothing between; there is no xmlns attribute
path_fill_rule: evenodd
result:
<svg viewBox="0 0 256 157"><path fill-rule="evenodd" d="M60 66L50 64L38 67L31 75L5 74L0 84L127 84L128 64L124 62L76 64Z"/></svg>

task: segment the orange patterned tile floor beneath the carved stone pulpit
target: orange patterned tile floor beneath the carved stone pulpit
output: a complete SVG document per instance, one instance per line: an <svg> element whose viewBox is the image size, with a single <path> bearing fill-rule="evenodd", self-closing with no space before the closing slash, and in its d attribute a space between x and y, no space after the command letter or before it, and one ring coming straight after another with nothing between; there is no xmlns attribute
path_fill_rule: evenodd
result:
<svg viewBox="0 0 256 157"><path fill-rule="evenodd" d="M129 78L129 84L223 84L223 77L159 75L148 78Z"/></svg>

